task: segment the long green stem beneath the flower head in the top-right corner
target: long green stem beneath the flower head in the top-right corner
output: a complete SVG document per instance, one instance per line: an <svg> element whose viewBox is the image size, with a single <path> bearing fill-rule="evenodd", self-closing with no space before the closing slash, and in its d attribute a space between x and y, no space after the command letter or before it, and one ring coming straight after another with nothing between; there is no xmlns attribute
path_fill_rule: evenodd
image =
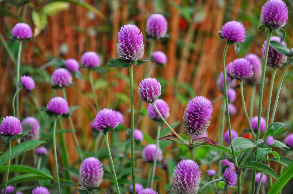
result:
<svg viewBox="0 0 293 194"><path fill-rule="evenodd" d="M269 53L270 41L271 41L272 33L273 33L273 30L269 29L267 46L266 46L266 49L265 49L265 57L264 57L264 60L263 60L263 74L262 74L262 79L261 79L261 84L260 84L256 141L258 141L259 134L260 134L260 117L261 117L262 106L263 106L263 88L264 88L264 85L265 85L265 69L266 69L266 66L267 66L268 53ZM258 150L255 151L254 161L257 161L257 155L258 155ZM253 170L252 189L251 189L252 194L254 193L254 189L255 189L255 174L256 174L256 170Z"/></svg>

